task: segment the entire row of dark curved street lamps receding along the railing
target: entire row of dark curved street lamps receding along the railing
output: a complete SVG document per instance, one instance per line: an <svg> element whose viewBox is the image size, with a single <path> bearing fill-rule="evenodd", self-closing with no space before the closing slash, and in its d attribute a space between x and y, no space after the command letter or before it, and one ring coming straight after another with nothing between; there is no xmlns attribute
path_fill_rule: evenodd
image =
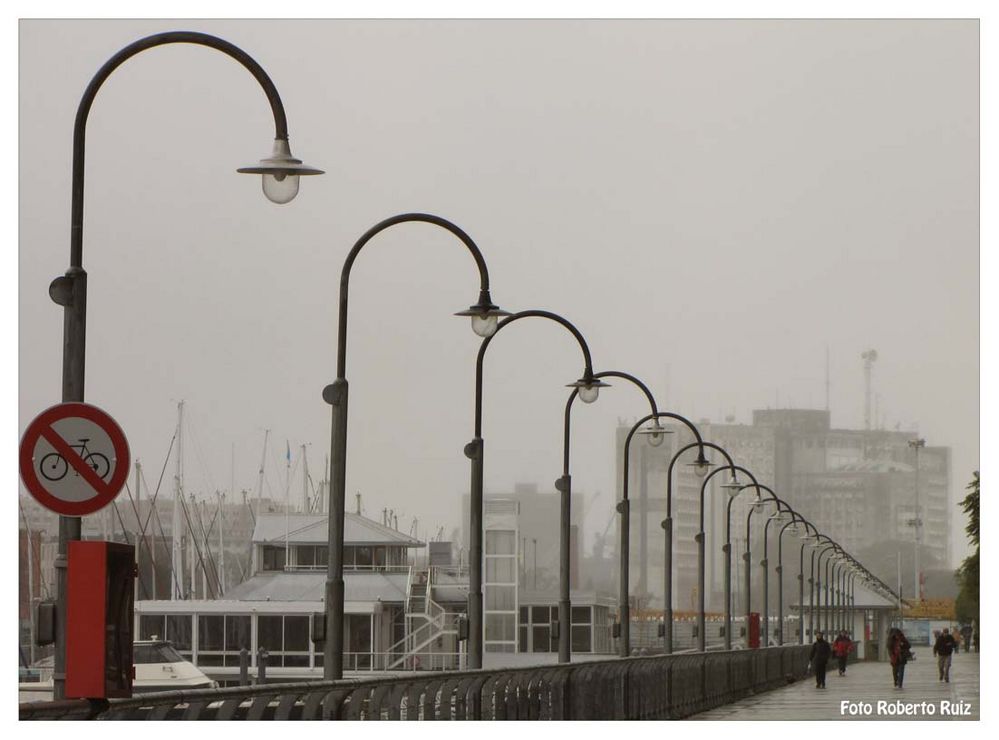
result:
<svg viewBox="0 0 999 740"><path fill-rule="evenodd" d="M188 43L206 46L223 52L229 57L242 64L254 76L263 88L267 99L271 105L275 122L275 141L273 152L270 157L261 160L251 167L239 169L239 172L247 174L259 174L262 176L263 191L267 198L275 203L287 203L298 193L299 179L302 176L322 174L322 171L314 167L304 165L301 160L291 155L288 145L288 127L285 117L284 107L277 93L276 88L263 69L245 52L227 41L207 34L175 31L169 33L156 34L125 47L113 56L94 76L87 87L80 102L74 128L73 147L73 185L72 185L72 216L71 216L71 250L70 267L66 274L53 281L49 293L52 299L65 309L64 320L64 351L63 351L63 401L83 401L84 400L84 363L85 363L85 335L86 335L86 272L83 270L83 179L84 179L84 145L86 133L86 121L91 104L97 94L98 89L107 77L124 61L135 54L158 46L171 43ZM385 219L366 231L354 244L348 253L340 277L340 302L337 327L337 374L334 381L323 389L323 399L332 407L331 421L331 450L330 450L330 505L329 505L329 561L327 578L325 584L325 608L326 608L326 641L324 646L324 677L328 679L338 679L343 676L343 649L344 649L344 581L343 581L343 545L344 545L344 513L345 513L345 481L346 481L346 456L347 456L347 399L348 383L346 375L347 357L347 298L348 285L351 268L361 250L378 234L394 226L424 223L450 232L461 244L467 248L471 254L479 275L479 290L477 300L469 308L457 312L456 315L471 319L472 329L476 335L482 337L476 358L475 377L475 412L474 429L472 440L465 445L465 455L470 461L471 468L471 516L470 516L470 583L468 597L468 667L481 668L483 658L483 603L482 603L482 537L483 537L483 466L484 466L484 441L482 438L482 395L483 395L483 364L485 353L490 346L492 339L504 328L516 321L524 318L545 319L559 324L567 330L578 343L583 355L583 373L578 380L568 384L572 388L565 406L564 425L564 449L563 449L563 469L562 476L556 481L556 489L561 494L560 512L560 580L559 580L559 660L568 662L571 659L570 638L571 638L571 604L569 595L569 522L571 503L571 474L569 467L570 460L570 427L571 410L575 399L578 397L584 403L593 403L599 394L600 388L607 387L603 378L615 378L625 380L636 386L648 400L651 413L642 417L629 430L625 441L624 458L624 480L623 497L617 505L617 510L621 514L620 527L620 594L619 594L619 619L620 619L620 649L622 655L627 655L630 647L629 634L629 604L628 604L628 554L629 554L629 501L628 501L628 458L631 441L635 434L645 436L649 443L658 446L662 443L666 428L660 424L661 419L669 418L684 424L694 435L695 442L680 449L669 463L669 474L667 476L667 503L666 519L663 528L666 536L666 561L665 561L665 594L666 605L664 609L666 649L672 647L672 473L674 465L679 456L694 447L697 448L696 459L689 463L694 470L704 477L701 487L701 526L698 533L698 553L699 553L699 643L703 650L704 642L704 495L707 483L711 476L719 474L724 470L730 472L730 478L722 486L732 492L732 499L741 491L753 488L757 491L757 502L751 507L747 517L747 538L745 558L747 564L750 562L749 551L749 526L750 518L756 508L760 508L768 501L777 504L778 513L791 511L783 501L766 486L756 482L753 475L746 470L735 465L725 450L721 447L706 442L701 438L697 427L688 419L679 414L660 411L656 405L648 387L638 378L620 371L594 372L590 350L579 330L568 320L544 310L529 310L510 313L499 308L493 303L490 295L489 272L486 261L482 256L478 246L472 238L450 221L439 216L426 213L406 213L392 218ZM650 425L646 426L647 423ZM712 473L708 473L711 463L705 457L705 450L713 449L720 452L726 459L727 465L717 468ZM737 479L737 472L744 473L752 483L743 485ZM770 499L763 499L761 492L769 494ZM729 514L731 513L731 500L729 502ZM774 519L775 517L771 517ZM887 589L883 583L878 581L868 571L859 566L858 563L849 557L835 542L828 537L818 534L815 528L807 523L803 517L792 512L792 521L788 522L778 535L778 539L783 535L784 530L795 522L802 522L813 531L811 543L818 545L825 544L821 550L819 561L822 555L831 550L838 553L836 565L849 563L851 565L852 576L861 576L870 583L876 584L878 588ZM767 521L769 525L770 520ZM58 617L57 617L57 641L55 655L55 698L63 696L63 673L65 666L65 554L68 542L80 537L80 520L74 517L60 517L59 528L59 557L56 561L57 567L57 588L58 588ZM767 526L764 528L764 541L767 537ZM824 540L822 539L824 538ZM801 550L801 563L804 563L804 548L809 544L803 543ZM726 522L726 646L731 646L731 546L729 539L729 523ZM780 552L780 550L779 550ZM780 555L778 556L780 561ZM826 577L822 582L826 591L826 609L823 610L826 620L829 619L830 612L830 588L829 588L829 563L832 557L826 560ZM762 561L764 567L764 600L767 594L766 579L766 558ZM815 550L812 552L812 571L809 577L810 585L810 605L812 606L812 617L815 618L816 602L819 597L819 580L814 578ZM782 564L778 562L778 572ZM803 573L803 570L802 570ZM841 575L845 575L841 567ZM799 575L799 579L802 576ZM747 604L749 602L749 575L747 568L746 594ZM852 586L852 580L850 581ZM845 606L844 585L845 580L840 583L838 589L833 589L833 598L837 608ZM812 587L814 586L814 591ZM782 591L780 599L782 600ZM852 594L852 591L851 591ZM748 609L748 607L747 607ZM782 609L782 607L781 607ZM764 609L764 624L767 621L766 609ZM782 630L783 628L781 628ZM802 639L804 639L802 631Z"/></svg>

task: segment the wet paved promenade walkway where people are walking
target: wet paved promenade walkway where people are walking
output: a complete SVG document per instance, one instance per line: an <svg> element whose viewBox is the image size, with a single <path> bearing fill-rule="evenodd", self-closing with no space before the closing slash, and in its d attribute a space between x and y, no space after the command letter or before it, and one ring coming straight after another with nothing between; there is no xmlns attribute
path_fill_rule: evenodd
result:
<svg viewBox="0 0 999 740"><path fill-rule="evenodd" d="M853 663L845 676L840 676L835 663L830 663L826 688L816 689L809 677L790 686L758 694L742 701L694 715L690 719L707 720L940 720L979 718L979 655L955 654L950 683L937 681L937 664L928 647L916 648L916 660L905 669L904 688L892 685L888 663ZM841 709L841 702L865 702L870 714L850 714ZM879 702L887 704L881 707ZM896 702L915 705L915 714L889 714ZM923 704L925 702L925 704ZM964 708L966 715L941 714L948 706ZM929 707L935 710L929 713ZM865 707L866 708L866 707Z"/></svg>

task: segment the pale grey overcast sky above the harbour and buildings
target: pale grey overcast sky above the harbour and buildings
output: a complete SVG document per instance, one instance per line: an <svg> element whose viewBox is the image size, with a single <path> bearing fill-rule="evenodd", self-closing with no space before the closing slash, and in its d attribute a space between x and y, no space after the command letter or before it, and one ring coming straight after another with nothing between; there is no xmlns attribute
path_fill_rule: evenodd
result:
<svg viewBox="0 0 999 740"><path fill-rule="evenodd" d="M268 71L292 150L327 174L275 206L236 167L270 150L253 79L174 46L114 73L90 117L87 400L153 484L186 399L187 487L253 490L264 428L322 477L343 258L428 211L467 230L504 308L546 308L597 369L694 419L821 408L863 424L878 350L888 428L979 464L979 45L974 21L24 21L20 24L20 429L58 402L73 117L98 67L171 29L215 33ZM30 166L29 166L30 165ZM351 283L347 490L408 527L459 524L478 340L464 249L397 227ZM487 357L486 488L559 475L582 360L548 322ZM668 388L667 388L668 385ZM576 415L574 488L612 515L613 439L642 399ZM293 489L294 494L294 489ZM807 515L807 512L806 512ZM964 552L963 519L955 555ZM552 523L553 527L556 523Z"/></svg>

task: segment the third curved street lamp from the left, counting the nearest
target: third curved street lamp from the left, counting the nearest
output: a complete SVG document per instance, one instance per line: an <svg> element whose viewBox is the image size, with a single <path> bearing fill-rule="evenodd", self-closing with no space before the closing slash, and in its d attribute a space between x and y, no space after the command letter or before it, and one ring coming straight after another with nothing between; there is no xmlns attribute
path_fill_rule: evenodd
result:
<svg viewBox="0 0 999 740"><path fill-rule="evenodd" d="M497 324L495 331L486 336L479 345L479 354L475 361L475 435L472 441L465 445L465 457L471 460L471 496L470 530L469 530L469 582L468 582L468 667L482 667L483 614L482 614L482 479L483 479L483 441L482 441L482 374L486 350L490 342L500 330L515 321L527 318L541 318L554 321L565 327L576 339L583 352L583 375L568 387L579 392L579 398L584 403L597 400L600 388L607 384L595 377L593 362L590 358L590 348L583 335L569 321L551 311L529 310L519 311L507 316ZM568 547L566 548L568 550ZM561 635L561 632L560 632Z"/></svg>

